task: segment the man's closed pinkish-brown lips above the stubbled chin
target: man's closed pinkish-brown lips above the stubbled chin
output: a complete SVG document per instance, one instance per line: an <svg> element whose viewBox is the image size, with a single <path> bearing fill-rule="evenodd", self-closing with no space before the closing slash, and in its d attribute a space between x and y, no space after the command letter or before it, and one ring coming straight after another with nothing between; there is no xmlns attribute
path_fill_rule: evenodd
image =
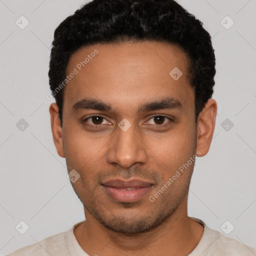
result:
<svg viewBox="0 0 256 256"><path fill-rule="evenodd" d="M143 197L153 183L139 179L112 179L102 183L107 195L117 202L135 202Z"/></svg>

